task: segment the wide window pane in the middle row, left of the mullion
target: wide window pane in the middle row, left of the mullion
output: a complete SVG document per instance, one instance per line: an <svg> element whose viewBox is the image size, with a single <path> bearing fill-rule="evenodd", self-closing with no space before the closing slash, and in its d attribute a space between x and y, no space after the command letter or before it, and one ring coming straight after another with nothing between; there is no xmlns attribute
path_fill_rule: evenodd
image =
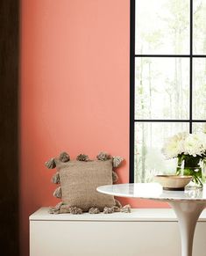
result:
<svg viewBox="0 0 206 256"><path fill-rule="evenodd" d="M136 58L135 119L188 119L188 58Z"/></svg>

